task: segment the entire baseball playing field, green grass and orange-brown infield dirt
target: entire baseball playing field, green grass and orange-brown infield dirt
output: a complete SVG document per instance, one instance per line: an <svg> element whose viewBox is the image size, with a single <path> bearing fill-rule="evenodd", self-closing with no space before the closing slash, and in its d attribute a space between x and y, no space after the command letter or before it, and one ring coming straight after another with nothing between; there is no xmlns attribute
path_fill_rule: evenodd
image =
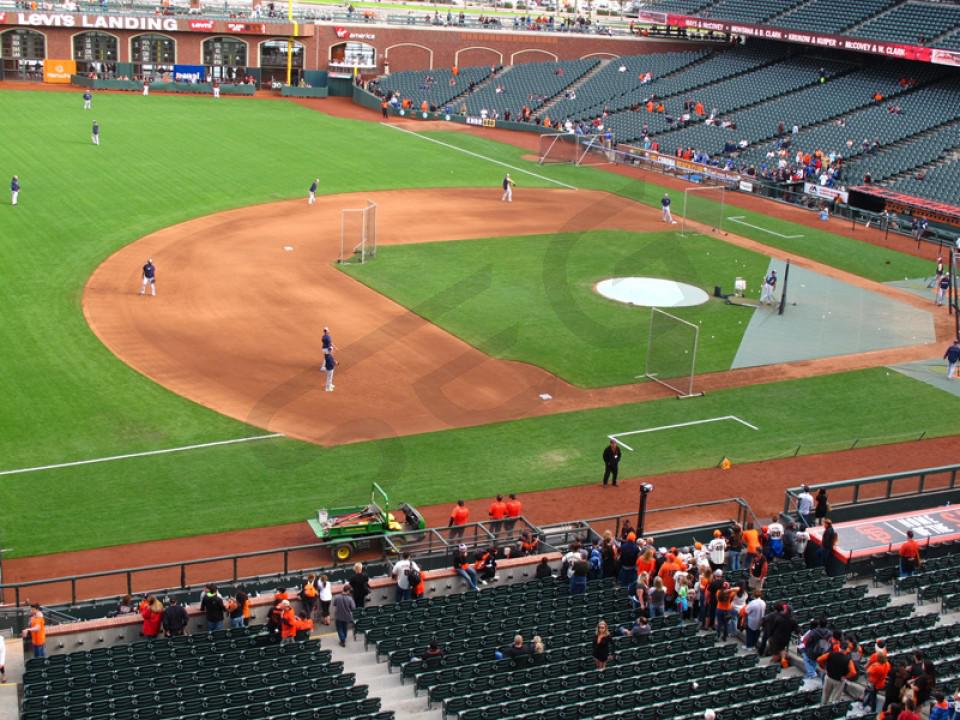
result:
<svg viewBox="0 0 960 720"><path fill-rule="evenodd" d="M596 484L607 435L726 416L757 429L652 432L624 473L957 431L960 398L889 367L942 354L945 312L883 284L932 260L833 224L738 207L727 236L708 228L717 204L694 197L702 234L681 240L659 221L656 180L322 103L98 94L84 111L77 92L0 90L0 105L15 139L3 170L22 186L0 204L8 557L297 522L373 480L420 505ZM337 266L340 211L368 199L377 258ZM156 298L137 295L148 256ZM712 294L742 275L755 299L785 257L929 310L933 339L735 368L752 311L711 299L677 311L700 327L707 391L678 402L637 378L649 309L593 291L645 275ZM341 362L329 394L324 325Z"/></svg>

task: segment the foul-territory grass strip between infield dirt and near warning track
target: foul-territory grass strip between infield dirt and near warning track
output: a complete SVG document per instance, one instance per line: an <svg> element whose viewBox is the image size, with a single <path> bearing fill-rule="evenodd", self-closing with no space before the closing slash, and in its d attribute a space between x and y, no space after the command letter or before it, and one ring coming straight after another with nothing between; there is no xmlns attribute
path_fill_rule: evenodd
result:
<svg viewBox="0 0 960 720"><path fill-rule="evenodd" d="M329 449L275 440L197 450L4 478L3 543L21 556L296 522L354 504L373 480L416 504L599 482L608 434L724 415L759 430L720 422L626 438L636 452L625 452L623 474L947 435L958 412L960 399L875 369Z"/></svg>

